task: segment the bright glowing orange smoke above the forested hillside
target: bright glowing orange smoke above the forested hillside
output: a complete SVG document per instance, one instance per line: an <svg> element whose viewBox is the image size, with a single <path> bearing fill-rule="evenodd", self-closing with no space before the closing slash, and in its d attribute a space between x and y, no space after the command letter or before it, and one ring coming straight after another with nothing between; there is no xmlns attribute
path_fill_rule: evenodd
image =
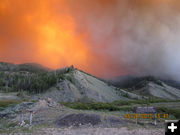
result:
<svg viewBox="0 0 180 135"><path fill-rule="evenodd" d="M63 13L55 12L56 4ZM0 60L87 68L93 54L67 12L64 0L1 0Z"/></svg>

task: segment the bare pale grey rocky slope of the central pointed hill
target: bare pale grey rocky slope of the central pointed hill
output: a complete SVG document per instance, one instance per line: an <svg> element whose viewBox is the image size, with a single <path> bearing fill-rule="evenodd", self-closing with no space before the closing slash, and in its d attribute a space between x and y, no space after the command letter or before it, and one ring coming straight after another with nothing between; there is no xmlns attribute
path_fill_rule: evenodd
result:
<svg viewBox="0 0 180 135"><path fill-rule="evenodd" d="M32 99L50 97L56 101L64 102L113 102L116 100L142 98L136 94L116 89L77 69L73 69L71 72L64 74L64 78L64 80L60 80L60 82L47 90L47 92L35 95Z"/></svg>

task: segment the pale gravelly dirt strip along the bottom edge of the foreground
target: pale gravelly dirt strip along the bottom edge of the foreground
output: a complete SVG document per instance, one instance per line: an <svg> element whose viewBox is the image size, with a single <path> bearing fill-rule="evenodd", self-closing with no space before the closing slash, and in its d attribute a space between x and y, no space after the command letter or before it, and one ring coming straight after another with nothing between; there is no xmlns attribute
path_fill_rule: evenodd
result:
<svg viewBox="0 0 180 135"><path fill-rule="evenodd" d="M77 129L41 129L34 134L39 135L164 135L163 129L134 129L127 128L77 128Z"/></svg>

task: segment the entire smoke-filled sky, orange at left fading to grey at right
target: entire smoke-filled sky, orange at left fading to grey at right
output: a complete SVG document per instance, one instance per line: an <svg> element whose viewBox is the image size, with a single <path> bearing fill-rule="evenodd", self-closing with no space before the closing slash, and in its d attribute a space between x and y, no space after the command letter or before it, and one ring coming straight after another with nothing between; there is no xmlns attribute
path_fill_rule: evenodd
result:
<svg viewBox="0 0 180 135"><path fill-rule="evenodd" d="M179 0L0 0L0 61L180 80Z"/></svg>

